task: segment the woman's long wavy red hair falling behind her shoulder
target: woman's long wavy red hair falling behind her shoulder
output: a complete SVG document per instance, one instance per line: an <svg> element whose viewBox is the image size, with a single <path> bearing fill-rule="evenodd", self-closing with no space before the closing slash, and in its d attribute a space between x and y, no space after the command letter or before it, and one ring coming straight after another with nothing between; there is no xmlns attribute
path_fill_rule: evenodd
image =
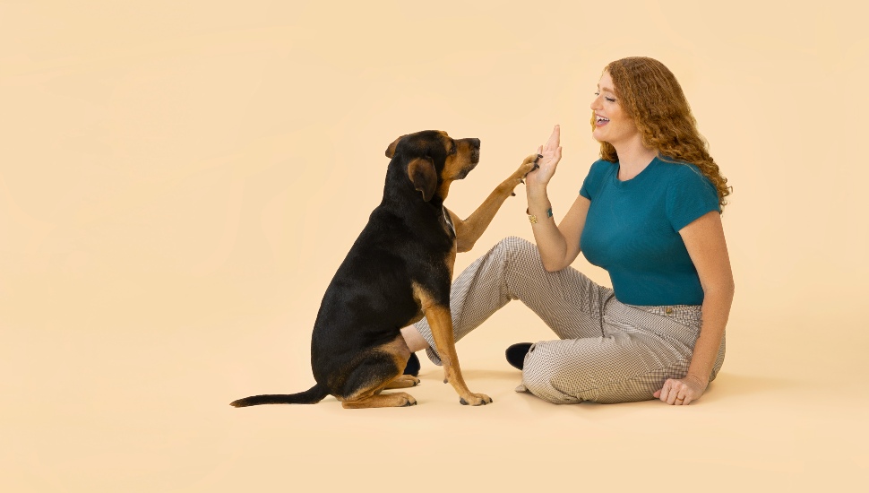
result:
<svg viewBox="0 0 869 493"><path fill-rule="evenodd" d="M697 120L688 106L682 86L664 64L645 56L615 60L604 69L613 79L615 95L640 130L643 145L655 149L665 160L691 163L718 190L721 210L732 186L722 177L709 153L709 143L697 131ZM595 128L594 111L591 129ZM601 159L615 162L618 155L609 143L600 143Z"/></svg>

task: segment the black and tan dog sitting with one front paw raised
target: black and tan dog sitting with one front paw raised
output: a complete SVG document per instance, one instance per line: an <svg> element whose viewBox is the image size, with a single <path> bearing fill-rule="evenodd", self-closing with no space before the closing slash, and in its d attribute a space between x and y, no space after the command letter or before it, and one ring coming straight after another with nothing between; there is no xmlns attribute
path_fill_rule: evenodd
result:
<svg viewBox="0 0 869 493"><path fill-rule="evenodd" d="M477 166L479 149L479 139L454 140L434 130L402 135L390 144L383 202L332 278L314 323L311 366L317 384L298 394L239 399L233 406L313 404L329 394L345 408L416 404L409 394L381 391L419 383L402 375L410 350L400 329L423 316L460 402L492 402L470 392L461 377L450 315L452 268L456 252L473 247L537 155L461 221L443 207L443 199L453 180Z"/></svg>

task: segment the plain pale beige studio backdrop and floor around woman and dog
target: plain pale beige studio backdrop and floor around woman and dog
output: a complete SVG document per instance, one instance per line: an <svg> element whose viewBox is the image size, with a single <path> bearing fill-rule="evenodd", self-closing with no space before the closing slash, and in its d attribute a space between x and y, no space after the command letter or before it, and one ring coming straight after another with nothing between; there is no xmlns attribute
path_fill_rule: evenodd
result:
<svg viewBox="0 0 869 493"><path fill-rule="evenodd" d="M0 2L0 489L865 483L865 13L362 4ZM676 74L735 187L727 362L700 402L513 393L503 349L552 335L512 304L459 345L494 405L425 359L415 408L228 406L313 383L317 307L396 136L482 140L448 201L468 214L559 123L560 217L597 157L600 71L635 55ZM531 238L518 191L458 268Z"/></svg>

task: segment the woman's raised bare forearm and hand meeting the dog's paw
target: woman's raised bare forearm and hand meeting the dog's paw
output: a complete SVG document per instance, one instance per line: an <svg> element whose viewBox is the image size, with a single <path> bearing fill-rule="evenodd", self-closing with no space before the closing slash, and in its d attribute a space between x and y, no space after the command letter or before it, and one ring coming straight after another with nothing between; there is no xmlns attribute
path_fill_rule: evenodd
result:
<svg viewBox="0 0 869 493"><path fill-rule="evenodd" d="M542 156L538 160L540 168L525 177L528 213L538 219L537 223L531 224L531 230L540 250L543 267L549 272L564 269L580 255L580 237L591 204L589 199L578 195L558 226L555 226L555 221L546 213L552 207L546 195L546 186L555 175L555 168L561 160L561 147L558 145L560 137L561 128L555 125L546 146L541 145L538 148L538 154Z"/></svg>

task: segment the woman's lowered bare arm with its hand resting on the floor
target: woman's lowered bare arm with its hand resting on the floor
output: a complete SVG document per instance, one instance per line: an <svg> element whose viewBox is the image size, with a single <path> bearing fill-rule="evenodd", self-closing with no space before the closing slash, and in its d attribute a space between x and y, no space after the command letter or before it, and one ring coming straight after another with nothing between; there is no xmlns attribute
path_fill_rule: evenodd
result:
<svg viewBox="0 0 869 493"><path fill-rule="evenodd" d="M688 375L682 379L667 380L661 390L654 394L668 404L688 404L700 398L709 385L734 293L733 272L718 212L702 215L681 229L679 234L700 275L703 287L702 324L700 336L694 343Z"/></svg>

